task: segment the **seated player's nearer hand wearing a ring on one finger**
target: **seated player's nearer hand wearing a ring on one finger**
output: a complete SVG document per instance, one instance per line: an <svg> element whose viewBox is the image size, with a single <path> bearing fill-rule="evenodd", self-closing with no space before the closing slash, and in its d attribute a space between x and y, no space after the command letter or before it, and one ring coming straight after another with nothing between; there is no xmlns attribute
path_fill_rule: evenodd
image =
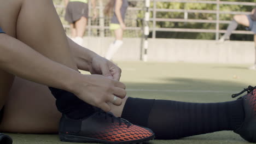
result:
<svg viewBox="0 0 256 144"><path fill-rule="evenodd" d="M102 75L82 75L76 85L74 94L86 103L99 107L108 112L110 106L121 105L126 96L125 85L119 81L109 79ZM114 97L117 96L117 100Z"/></svg>

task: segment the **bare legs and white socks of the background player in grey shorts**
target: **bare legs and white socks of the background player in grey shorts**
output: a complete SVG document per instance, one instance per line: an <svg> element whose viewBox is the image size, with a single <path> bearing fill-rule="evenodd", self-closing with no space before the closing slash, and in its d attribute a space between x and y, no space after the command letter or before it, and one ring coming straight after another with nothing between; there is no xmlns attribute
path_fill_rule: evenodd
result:
<svg viewBox="0 0 256 144"><path fill-rule="evenodd" d="M84 43L84 33L87 25L86 17L82 16L81 19L74 23L76 29L76 37L75 42L79 45L83 45Z"/></svg>

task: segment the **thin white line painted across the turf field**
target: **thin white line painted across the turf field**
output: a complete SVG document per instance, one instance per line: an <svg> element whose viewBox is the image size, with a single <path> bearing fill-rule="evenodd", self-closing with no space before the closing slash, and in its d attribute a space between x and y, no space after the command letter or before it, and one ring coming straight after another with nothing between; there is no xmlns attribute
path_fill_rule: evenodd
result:
<svg viewBox="0 0 256 144"><path fill-rule="evenodd" d="M230 91L200 91L200 90L186 90L186 89L126 89L128 92L193 92L193 93L239 93Z"/></svg>

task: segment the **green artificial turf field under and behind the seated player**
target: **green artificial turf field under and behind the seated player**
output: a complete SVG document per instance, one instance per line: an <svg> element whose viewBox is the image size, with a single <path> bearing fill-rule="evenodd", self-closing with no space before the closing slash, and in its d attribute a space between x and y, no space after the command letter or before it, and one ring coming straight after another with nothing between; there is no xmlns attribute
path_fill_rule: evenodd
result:
<svg viewBox="0 0 256 144"><path fill-rule="evenodd" d="M248 85L256 84L256 71L243 64L193 64L118 62L123 69L121 82L127 95L196 103L234 100ZM255 82L255 83L254 83ZM9 134L14 144L66 143L57 135ZM150 143L248 143L232 131L186 137L181 140L154 140Z"/></svg>

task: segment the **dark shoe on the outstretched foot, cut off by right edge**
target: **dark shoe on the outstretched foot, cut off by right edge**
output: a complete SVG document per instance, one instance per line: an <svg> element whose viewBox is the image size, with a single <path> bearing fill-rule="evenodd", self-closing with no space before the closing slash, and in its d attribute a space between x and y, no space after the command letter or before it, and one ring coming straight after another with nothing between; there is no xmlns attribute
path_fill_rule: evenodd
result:
<svg viewBox="0 0 256 144"><path fill-rule="evenodd" d="M247 94L238 99L243 99L245 120L241 127L234 130L234 132L249 142L256 142L256 87L248 86L248 88L245 88L242 92L233 94L232 98L244 92L247 92Z"/></svg>

